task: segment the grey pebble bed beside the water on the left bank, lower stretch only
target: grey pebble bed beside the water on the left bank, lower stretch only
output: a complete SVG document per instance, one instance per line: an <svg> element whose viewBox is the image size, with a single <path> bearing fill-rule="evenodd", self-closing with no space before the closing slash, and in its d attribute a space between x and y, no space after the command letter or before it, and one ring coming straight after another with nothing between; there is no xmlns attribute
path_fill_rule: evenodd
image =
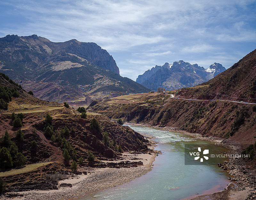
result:
<svg viewBox="0 0 256 200"><path fill-rule="evenodd" d="M88 175L77 175L73 179L65 180L69 182L72 187L60 187L58 190L33 190L27 192L17 192L15 194L22 194L17 196L17 199L69 199L83 196L85 193L115 187L135 178L145 175L151 171L152 166L138 166L135 168L87 168ZM60 185L61 183L59 183ZM10 199L10 198L3 198ZM12 198L13 199L13 198ZM15 198L14 198L15 199Z"/></svg>

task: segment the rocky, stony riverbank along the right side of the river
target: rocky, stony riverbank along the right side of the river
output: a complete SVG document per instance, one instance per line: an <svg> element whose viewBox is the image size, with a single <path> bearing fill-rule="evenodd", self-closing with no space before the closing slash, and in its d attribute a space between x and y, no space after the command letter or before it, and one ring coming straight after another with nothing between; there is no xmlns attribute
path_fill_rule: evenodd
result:
<svg viewBox="0 0 256 200"><path fill-rule="evenodd" d="M203 137L198 133L185 132L178 128L172 128L172 127L159 127L159 126L152 126L147 124L135 124L135 123L126 123L125 125L147 126L151 128L160 128L164 131L181 132L181 133L190 135L196 139L214 142L214 145L216 146L223 146L230 149L230 151L225 152L225 154L241 154L242 145L240 145L237 142L232 142L232 141L227 142L223 138L218 138L213 136ZM201 196L191 196L188 199L193 199L193 200L256 199L256 185L255 185L256 176L255 176L255 171L250 170L252 166L248 166L242 158L227 159L227 161L225 161L225 163L222 163L222 164L224 164L228 168L228 173L230 175L228 176L228 180L232 181L233 183L231 182L231 184L227 186L226 190L221 190L218 192L214 192L212 194L205 194ZM238 187L234 187L235 186L234 184L237 185Z"/></svg>

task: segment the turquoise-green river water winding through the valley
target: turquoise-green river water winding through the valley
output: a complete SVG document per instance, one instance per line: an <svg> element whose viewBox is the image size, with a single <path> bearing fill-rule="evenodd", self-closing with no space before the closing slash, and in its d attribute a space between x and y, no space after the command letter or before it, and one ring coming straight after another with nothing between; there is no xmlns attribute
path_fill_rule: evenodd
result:
<svg viewBox="0 0 256 200"><path fill-rule="evenodd" d="M137 132L154 136L158 142L155 150L163 154L156 157L152 171L126 184L90 192L78 199L184 199L219 191L229 183L228 173L217 166L217 161L212 160L215 163L211 165L184 163L185 145L207 145L215 153L226 152L226 148L183 133L129 126Z"/></svg>

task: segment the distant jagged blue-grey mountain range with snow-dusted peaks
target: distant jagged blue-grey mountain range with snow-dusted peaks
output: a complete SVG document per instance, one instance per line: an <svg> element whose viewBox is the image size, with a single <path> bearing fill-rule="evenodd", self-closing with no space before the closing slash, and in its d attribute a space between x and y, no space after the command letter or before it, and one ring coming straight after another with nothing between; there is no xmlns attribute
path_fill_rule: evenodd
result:
<svg viewBox="0 0 256 200"><path fill-rule="evenodd" d="M195 82L208 81L225 70L226 68L216 62L207 69L184 61L173 62L173 64L166 62L163 66L156 65L143 75L139 75L136 82L153 90L158 87L172 90L186 87L187 84L190 87L190 84L192 86Z"/></svg>

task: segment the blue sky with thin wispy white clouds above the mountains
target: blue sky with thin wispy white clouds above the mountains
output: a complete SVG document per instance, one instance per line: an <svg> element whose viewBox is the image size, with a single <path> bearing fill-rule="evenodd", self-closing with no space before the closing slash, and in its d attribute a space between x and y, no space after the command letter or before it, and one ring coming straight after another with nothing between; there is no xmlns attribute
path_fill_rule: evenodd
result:
<svg viewBox="0 0 256 200"><path fill-rule="evenodd" d="M225 68L256 48L256 0L0 0L0 37L95 42L136 80L183 60Z"/></svg>

